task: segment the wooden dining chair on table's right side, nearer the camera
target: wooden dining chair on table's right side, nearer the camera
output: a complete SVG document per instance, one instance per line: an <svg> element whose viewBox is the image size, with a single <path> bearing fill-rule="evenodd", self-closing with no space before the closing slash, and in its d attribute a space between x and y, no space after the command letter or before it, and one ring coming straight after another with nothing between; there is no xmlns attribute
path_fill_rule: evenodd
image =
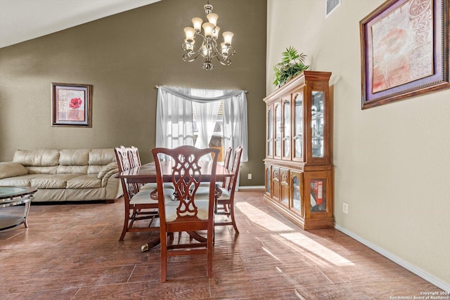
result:
<svg viewBox="0 0 450 300"><path fill-rule="evenodd" d="M236 183L238 181L239 169L240 169L240 157L242 156L242 147L236 148L234 151L233 167L231 172L233 176L229 178L226 186L222 186L220 189L221 193L216 193L216 214L225 215L230 219L226 221L217 220L216 226L227 226L233 225L236 234L239 234L238 226L236 225L236 219L234 217L234 193L236 190Z"/></svg>

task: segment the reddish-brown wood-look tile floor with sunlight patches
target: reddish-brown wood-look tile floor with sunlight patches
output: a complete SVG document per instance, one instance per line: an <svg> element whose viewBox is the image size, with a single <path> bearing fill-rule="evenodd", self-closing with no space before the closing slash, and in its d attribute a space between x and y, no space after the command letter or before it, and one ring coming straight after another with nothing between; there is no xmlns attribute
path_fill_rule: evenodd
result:
<svg viewBox="0 0 450 300"><path fill-rule="evenodd" d="M214 278L206 277L206 257L181 256L169 258L165 283L160 247L141 252L155 233L118 241L123 199L32 204L29 228L0 231L0 299L392 299L441 291L338 230L300 230L262 194L236 193L240 235L216 229Z"/></svg>

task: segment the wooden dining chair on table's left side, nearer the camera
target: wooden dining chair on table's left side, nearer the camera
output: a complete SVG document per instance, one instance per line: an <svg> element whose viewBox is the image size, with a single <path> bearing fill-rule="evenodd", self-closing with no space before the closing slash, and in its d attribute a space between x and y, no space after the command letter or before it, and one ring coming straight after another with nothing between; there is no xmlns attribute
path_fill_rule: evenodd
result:
<svg viewBox="0 0 450 300"><path fill-rule="evenodd" d="M124 146L120 146L120 148L115 148L114 151L120 172L127 171L133 167L139 167L141 164L139 154L137 154L137 148L125 148ZM138 155L137 159L135 156L136 154ZM155 223L157 223L155 222L155 219L158 218L158 200L150 198L152 190L141 190L141 184L127 183L125 178L120 178L120 181L124 191L125 218L122 235L120 235L119 240L124 240L125 234L129 232L160 230L159 226L155 225ZM134 226L136 221L146 219L150 220L148 226Z"/></svg>

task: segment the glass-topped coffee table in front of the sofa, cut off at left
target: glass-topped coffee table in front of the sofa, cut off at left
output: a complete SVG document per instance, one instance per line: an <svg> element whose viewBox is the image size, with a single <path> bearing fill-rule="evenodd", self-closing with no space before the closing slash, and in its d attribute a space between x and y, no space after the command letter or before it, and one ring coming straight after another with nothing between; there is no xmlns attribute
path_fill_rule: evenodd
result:
<svg viewBox="0 0 450 300"><path fill-rule="evenodd" d="M33 194L37 188L30 186L0 186L0 208L12 207L14 205L24 204L25 211L23 216L2 215L0 214L0 230L6 230L24 224L28 227L27 217L30 211L30 204Z"/></svg>

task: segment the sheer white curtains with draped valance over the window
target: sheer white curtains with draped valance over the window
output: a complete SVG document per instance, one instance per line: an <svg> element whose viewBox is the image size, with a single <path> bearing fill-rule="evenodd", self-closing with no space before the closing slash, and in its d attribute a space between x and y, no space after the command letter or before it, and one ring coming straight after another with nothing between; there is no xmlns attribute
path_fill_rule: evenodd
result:
<svg viewBox="0 0 450 300"><path fill-rule="evenodd" d="M189 89L159 86L156 108L156 147L176 148L193 145L192 110L201 124L199 148L207 148L214 131L217 109L214 102L224 101L224 148L243 147L242 162L248 161L247 97L245 91ZM195 104L194 104L195 103ZM207 103L207 105L202 105ZM217 107L217 106L216 106ZM215 115L215 116L214 116Z"/></svg>

